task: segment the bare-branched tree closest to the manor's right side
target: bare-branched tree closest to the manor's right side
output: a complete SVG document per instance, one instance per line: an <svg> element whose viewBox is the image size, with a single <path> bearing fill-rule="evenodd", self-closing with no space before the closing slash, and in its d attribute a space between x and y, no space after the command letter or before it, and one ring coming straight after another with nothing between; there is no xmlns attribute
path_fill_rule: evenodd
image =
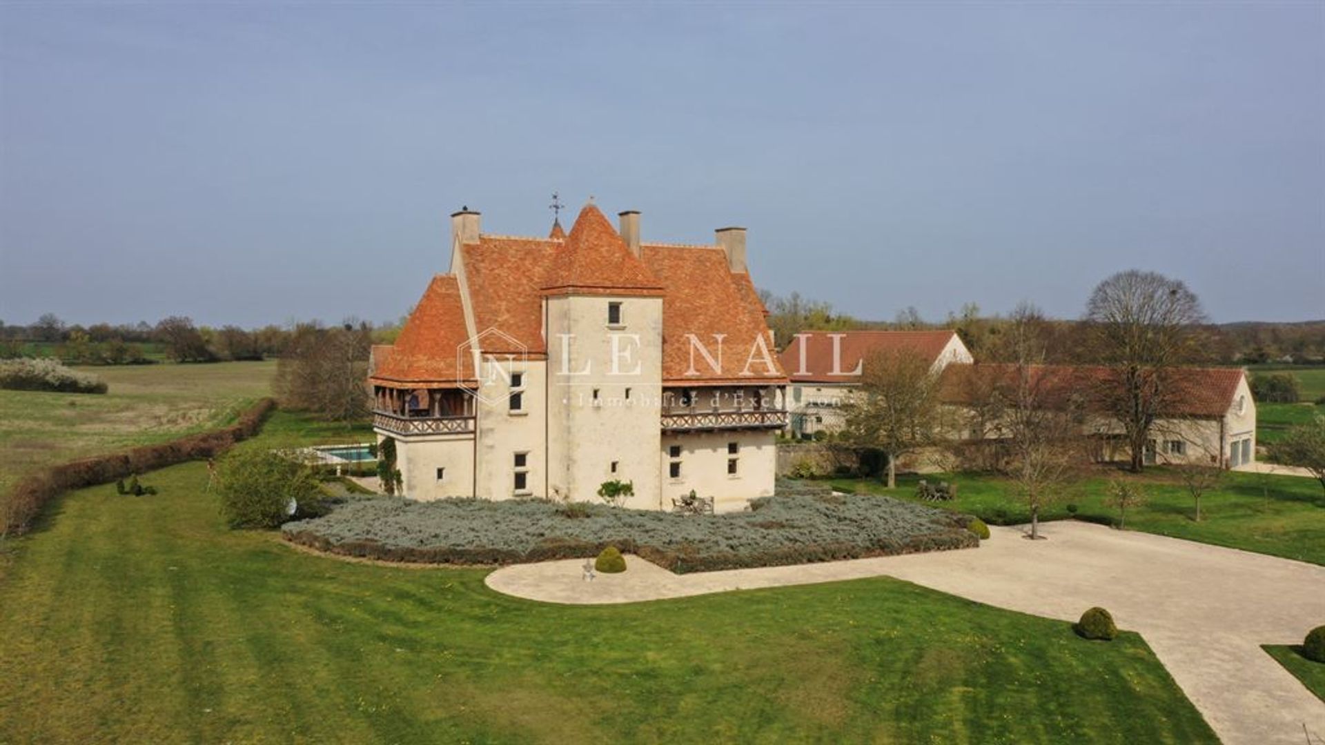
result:
<svg viewBox="0 0 1325 745"><path fill-rule="evenodd" d="M843 406L847 443L888 459L888 488L897 487L897 459L938 440L938 379L930 362L910 350L876 353L864 361L861 384Z"/></svg>

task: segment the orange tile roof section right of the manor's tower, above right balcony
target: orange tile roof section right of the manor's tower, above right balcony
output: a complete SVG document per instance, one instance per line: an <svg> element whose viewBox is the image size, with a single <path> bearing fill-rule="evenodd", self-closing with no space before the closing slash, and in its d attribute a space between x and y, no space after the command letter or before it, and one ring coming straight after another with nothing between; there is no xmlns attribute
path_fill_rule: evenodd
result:
<svg viewBox="0 0 1325 745"><path fill-rule="evenodd" d="M778 363L772 338L765 322L765 308L759 302L746 273L733 273L726 253L717 247L680 247L644 244L640 247L644 262L662 282L662 380L692 384L722 383L784 383L786 372ZM713 334L722 338L719 371L714 372L704 357L696 351L694 371L690 371L690 341L694 334L709 353L717 358ZM750 365L750 375L741 372L750 359L759 337L763 337L772 361L772 370L761 354Z"/></svg>

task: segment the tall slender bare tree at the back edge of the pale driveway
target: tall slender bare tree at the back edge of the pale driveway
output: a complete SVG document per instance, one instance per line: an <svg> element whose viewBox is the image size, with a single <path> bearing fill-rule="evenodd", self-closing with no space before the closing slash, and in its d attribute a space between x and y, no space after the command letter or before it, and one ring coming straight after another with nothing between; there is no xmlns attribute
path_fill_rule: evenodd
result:
<svg viewBox="0 0 1325 745"><path fill-rule="evenodd" d="M1077 399L1071 380L1044 366L1047 321L1023 302L1012 313L1004 343L1015 362L1000 380L1008 402L1004 430L1010 451L1008 475L1031 510L1031 540L1040 538L1040 513L1063 497L1080 441Z"/></svg>

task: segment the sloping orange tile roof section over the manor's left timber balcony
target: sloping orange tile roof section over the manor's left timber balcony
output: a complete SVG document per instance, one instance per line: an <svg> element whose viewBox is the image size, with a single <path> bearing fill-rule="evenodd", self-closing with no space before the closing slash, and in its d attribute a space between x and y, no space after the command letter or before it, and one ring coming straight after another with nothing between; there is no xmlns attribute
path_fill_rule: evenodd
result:
<svg viewBox="0 0 1325 745"><path fill-rule="evenodd" d="M380 345L374 346L375 369L370 379L379 386L473 382L469 355L456 354L468 338L460 284L453 274L437 274L391 351L379 357Z"/></svg>

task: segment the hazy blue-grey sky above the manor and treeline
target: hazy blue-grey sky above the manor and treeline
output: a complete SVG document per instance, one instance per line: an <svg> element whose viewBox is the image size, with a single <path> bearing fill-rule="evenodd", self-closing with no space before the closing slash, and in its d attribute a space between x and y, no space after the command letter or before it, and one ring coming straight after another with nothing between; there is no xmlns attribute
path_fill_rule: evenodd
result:
<svg viewBox="0 0 1325 745"><path fill-rule="evenodd" d="M554 190L865 318L1325 318L1325 4L0 5L5 322L395 318Z"/></svg>

